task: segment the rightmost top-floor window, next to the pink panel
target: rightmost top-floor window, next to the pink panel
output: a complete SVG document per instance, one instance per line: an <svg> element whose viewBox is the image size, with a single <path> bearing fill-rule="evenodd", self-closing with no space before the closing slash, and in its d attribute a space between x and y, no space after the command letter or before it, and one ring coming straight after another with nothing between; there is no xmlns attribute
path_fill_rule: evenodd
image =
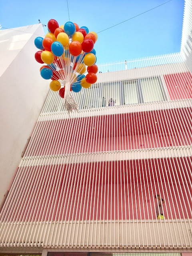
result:
<svg viewBox="0 0 192 256"><path fill-rule="evenodd" d="M160 81L157 77L142 78L140 81L144 103L164 100Z"/></svg>

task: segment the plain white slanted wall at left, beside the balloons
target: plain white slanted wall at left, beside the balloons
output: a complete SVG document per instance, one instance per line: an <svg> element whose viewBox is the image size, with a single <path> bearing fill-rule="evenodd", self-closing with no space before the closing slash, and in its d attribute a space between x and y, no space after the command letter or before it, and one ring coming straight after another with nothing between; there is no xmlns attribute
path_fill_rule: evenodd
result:
<svg viewBox="0 0 192 256"><path fill-rule="evenodd" d="M0 31L0 204L49 91L34 59L37 34L44 35L42 24Z"/></svg>

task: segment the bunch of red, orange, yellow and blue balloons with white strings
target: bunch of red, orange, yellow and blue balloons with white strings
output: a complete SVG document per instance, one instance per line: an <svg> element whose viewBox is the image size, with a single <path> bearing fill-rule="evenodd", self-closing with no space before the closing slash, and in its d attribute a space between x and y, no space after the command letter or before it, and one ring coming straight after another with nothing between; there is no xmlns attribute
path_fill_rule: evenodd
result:
<svg viewBox="0 0 192 256"><path fill-rule="evenodd" d="M58 91L60 97L64 98L68 113L78 110L70 91L80 92L82 87L89 88L97 81L96 40L97 34L89 32L85 26L79 28L72 22L59 26L53 19L48 22L45 38L35 38L35 46L39 49L35 59L47 64L40 68L40 75L52 80L50 89ZM87 73L86 76L84 73Z"/></svg>

